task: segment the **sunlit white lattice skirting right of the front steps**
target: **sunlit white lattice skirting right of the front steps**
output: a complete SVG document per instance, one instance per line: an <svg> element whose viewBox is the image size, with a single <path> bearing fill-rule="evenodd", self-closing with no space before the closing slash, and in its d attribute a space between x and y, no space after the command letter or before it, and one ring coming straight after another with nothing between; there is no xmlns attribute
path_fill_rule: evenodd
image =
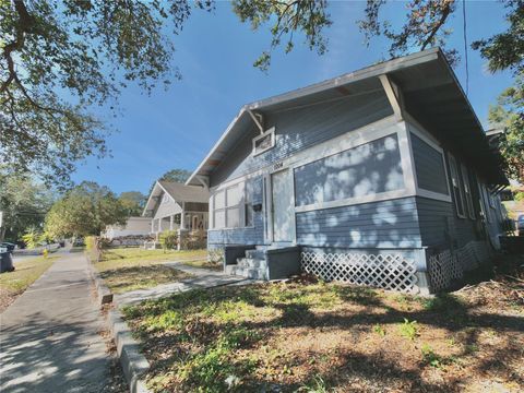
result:
<svg viewBox="0 0 524 393"><path fill-rule="evenodd" d="M401 254L302 252L302 271L325 281L418 293L413 260Z"/></svg>

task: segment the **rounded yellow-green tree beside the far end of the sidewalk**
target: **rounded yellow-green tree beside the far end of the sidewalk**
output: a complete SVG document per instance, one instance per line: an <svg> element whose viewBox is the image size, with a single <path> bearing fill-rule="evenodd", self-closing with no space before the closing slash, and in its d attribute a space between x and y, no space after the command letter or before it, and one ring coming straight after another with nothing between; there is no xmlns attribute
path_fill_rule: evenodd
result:
<svg viewBox="0 0 524 393"><path fill-rule="evenodd" d="M57 239L98 236L107 225L124 225L127 217L126 207L107 187L84 181L52 205L45 229Z"/></svg>

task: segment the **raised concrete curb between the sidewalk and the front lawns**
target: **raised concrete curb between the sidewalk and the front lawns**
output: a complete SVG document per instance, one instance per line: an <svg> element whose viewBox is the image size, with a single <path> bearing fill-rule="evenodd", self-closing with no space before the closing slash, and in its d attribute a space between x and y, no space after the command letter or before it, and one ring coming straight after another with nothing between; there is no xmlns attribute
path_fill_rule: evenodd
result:
<svg viewBox="0 0 524 393"><path fill-rule="evenodd" d="M87 257L86 257L87 258ZM112 293L104 284L96 269L87 258L90 274L96 286L96 295L102 305L112 302ZM106 323L117 347L118 359L129 384L130 393L150 393L142 376L150 369L150 362L140 353L140 344L133 338L131 330L118 309L107 312Z"/></svg>

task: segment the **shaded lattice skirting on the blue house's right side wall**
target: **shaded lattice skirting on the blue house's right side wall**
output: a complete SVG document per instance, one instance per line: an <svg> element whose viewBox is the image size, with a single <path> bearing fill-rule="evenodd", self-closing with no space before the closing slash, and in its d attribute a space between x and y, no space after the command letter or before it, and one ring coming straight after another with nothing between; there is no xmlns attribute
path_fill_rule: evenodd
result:
<svg viewBox="0 0 524 393"><path fill-rule="evenodd" d="M446 289L453 279L462 278L464 272L475 270L489 259L489 249L484 241L471 241L461 249L429 255L428 272L432 291Z"/></svg>

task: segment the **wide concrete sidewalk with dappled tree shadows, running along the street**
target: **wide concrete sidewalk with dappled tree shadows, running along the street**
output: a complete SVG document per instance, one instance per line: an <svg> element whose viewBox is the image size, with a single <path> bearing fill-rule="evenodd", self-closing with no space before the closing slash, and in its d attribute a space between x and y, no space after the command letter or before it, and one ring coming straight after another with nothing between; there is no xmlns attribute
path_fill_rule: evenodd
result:
<svg viewBox="0 0 524 393"><path fill-rule="evenodd" d="M99 335L83 253L61 258L0 314L0 391L106 392L111 357Z"/></svg>

